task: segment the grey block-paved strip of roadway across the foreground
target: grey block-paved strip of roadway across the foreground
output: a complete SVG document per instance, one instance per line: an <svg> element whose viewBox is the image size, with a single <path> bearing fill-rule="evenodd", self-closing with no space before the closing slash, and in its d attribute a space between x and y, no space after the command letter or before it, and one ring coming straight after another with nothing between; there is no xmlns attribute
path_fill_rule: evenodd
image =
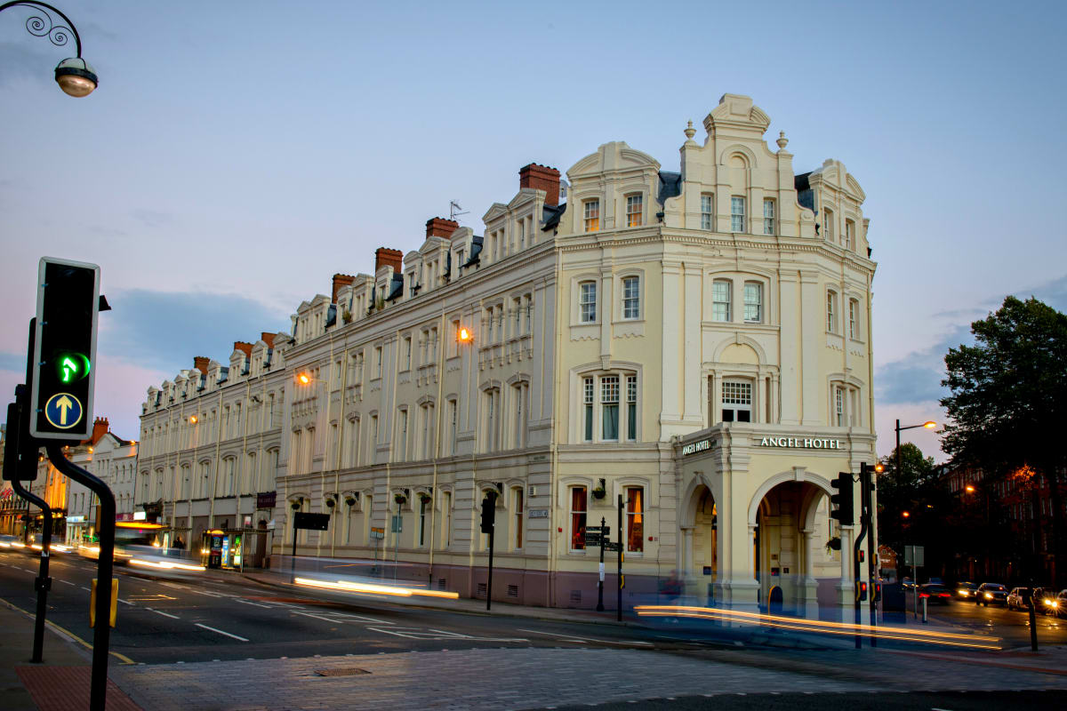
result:
<svg viewBox="0 0 1067 711"><path fill-rule="evenodd" d="M1067 677L876 651L857 657L499 648L120 666L145 709L530 709L737 693L1067 689ZM840 666L834 666L842 662ZM774 668L768 668L768 666ZM354 673L351 673L354 670ZM321 676L332 672L339 676Z"/></svg>

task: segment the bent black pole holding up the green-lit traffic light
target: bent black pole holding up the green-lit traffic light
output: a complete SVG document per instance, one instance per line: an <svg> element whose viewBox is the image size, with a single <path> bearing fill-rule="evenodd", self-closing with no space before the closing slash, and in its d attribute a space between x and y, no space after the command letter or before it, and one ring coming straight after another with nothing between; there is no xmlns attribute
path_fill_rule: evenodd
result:
<svg viewBox="0 0 1067 711"><path fill-rule="evenodd" d="M115 496L102 481L73 464L63 454L61 442L48 443L48 458L61 474L78 482L100 502L97 533L100 556L96 565L96 626L93 629L93 673L89 695L91 711L103 711L108 693L108 653L111 643L111 577L115 554Z"/></svg>

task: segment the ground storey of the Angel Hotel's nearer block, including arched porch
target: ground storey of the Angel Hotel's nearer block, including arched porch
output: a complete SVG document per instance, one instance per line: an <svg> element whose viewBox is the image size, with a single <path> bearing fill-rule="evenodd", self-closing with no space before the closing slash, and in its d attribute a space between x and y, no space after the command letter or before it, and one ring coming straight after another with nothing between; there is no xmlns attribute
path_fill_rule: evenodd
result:
<svg viewBox="0 0 1067 711"><path fill-rule="evenodd" d="M483 598L495 502L492 595L547 607L691 603L840 618L851 609L859 527L829 517L831 480L873 460L874 438L837 429L732 423L674 442L527 451L283 478L272 552L288 555L297 511L329 530L296 532L297 554ZM859 510L859 487L855 499ZM206 521L205 521L206 524ZM872 532L872 535L877 535ZM864 549L865 549L864 544ZM603 570L602 570L603 568ZM866 565L861 566L866 580Z"/></svg>

